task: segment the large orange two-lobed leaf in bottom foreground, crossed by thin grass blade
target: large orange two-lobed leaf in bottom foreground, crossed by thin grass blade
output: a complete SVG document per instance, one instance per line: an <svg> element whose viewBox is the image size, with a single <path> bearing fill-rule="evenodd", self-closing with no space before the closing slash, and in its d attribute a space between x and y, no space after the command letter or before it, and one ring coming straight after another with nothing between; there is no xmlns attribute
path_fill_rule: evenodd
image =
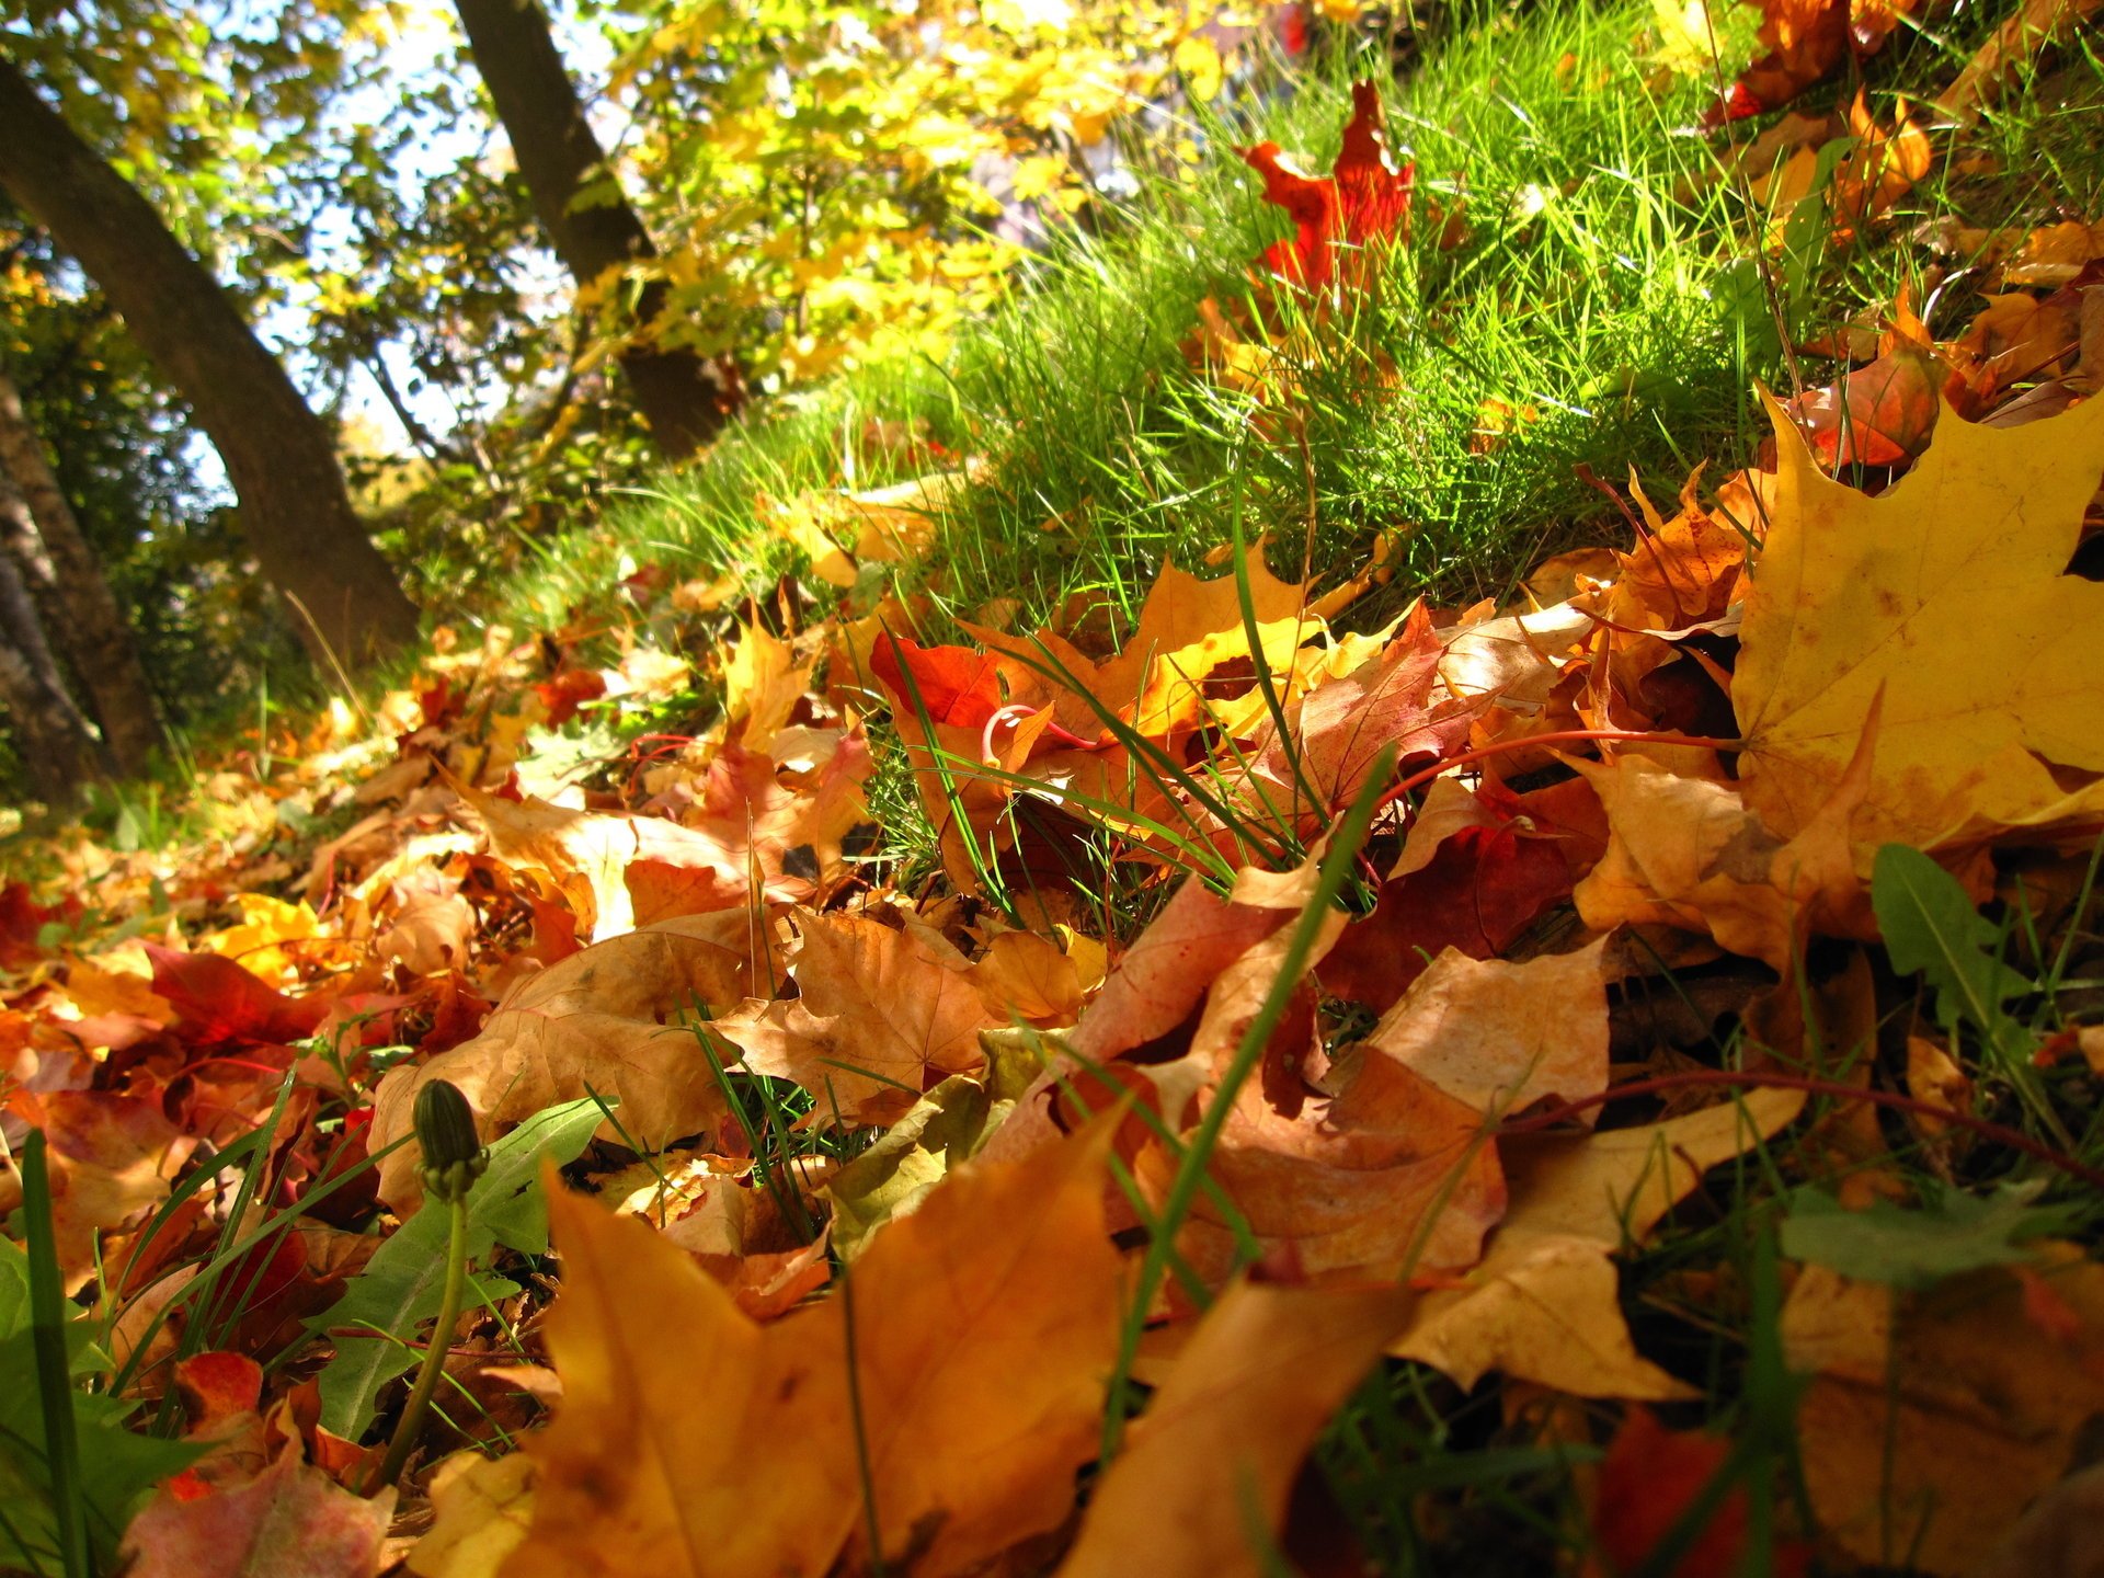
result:
<svg viewBox="0 0 2104 1578"><path fill-rule="evenodd" d="M856 1416L894 1572L962 1574L1056 1528L1117 1353L1105 1140L968 1168L869 1246L854 1395L844 1298L755 1326L648 1227L551 1187L564 1399L526 1445L534 1521L505 1578L863 1565Z"/></svg>

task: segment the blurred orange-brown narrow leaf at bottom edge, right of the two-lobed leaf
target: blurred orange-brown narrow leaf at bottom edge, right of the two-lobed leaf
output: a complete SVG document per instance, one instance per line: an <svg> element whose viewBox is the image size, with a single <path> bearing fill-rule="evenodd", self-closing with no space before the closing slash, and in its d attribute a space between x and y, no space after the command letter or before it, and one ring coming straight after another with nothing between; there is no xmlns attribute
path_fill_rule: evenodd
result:
<svg viewBox="0 0 2104 1578"><path fill-rule="evenodd" d="M1408 1319L1405 1288L1237 1281L1088 1502L1058 1578L1258 1578L1252 1523L1275 1532L1315 1435Z"/></svg>

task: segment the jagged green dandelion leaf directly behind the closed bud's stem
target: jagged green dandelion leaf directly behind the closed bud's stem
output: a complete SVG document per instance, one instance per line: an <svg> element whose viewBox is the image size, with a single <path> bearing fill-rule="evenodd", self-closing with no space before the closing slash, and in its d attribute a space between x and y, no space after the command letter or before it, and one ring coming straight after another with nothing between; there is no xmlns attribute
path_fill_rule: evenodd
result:
<svg viewBox="0 0 2104 1578"><path fill-rule="evenodd" d="M541 1197L541 1161L566 1166L583 1155L591 1132L606 1119L598 1100L572 1100L534 1113L490 1147L490 1166L467 1193L467 1258L482 1260L497 1243L520 1254L547 1250L547 1201ZM343 1298L309 1326L313 1330L364 1328L372 1338L339 1338L337 1357L322 1368L322 1427L356 1441L372 1424L381 1389L423 1357L410 1338L438 1317L446 1283L446 1214L421 1210L351 1277ZM515 1292L503 1277L478 1277L490 1298ZM503 1292L499 1292L503 1290Z"/></svg>

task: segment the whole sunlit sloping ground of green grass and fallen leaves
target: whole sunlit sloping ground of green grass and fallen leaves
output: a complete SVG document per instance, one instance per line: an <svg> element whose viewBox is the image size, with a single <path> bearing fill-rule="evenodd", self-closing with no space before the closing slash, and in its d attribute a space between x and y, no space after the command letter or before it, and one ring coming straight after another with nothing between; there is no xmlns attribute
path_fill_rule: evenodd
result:
<svg viewBox="0 0 2104 1578"><path fill-rule="evenodd" d="M0 1570L2085 1570L2104 61L1797 11L1203 112L15 837Z"/></svg>

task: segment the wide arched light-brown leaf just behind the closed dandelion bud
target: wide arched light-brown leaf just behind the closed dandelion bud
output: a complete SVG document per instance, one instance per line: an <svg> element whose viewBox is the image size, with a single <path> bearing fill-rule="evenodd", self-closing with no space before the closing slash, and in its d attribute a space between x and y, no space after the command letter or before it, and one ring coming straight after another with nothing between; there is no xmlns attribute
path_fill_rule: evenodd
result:
<svg viewBox="0 0 2104 1578"><path fill-rule="evenodd" d="M724 1119L709 1056L682 1014L751 995L743 915L692 915L598 943L528 976L471 1041L391 1069L372 1098L379 1151L410 1132L417 1090L450 1079L494 1138L589 1084L621 1100L621 1126L663 1147ZM612 1130L608 1130L612 1134ZM414 1145L381 1157L381 1199L408 1216L423 1199Z"/></svg>

